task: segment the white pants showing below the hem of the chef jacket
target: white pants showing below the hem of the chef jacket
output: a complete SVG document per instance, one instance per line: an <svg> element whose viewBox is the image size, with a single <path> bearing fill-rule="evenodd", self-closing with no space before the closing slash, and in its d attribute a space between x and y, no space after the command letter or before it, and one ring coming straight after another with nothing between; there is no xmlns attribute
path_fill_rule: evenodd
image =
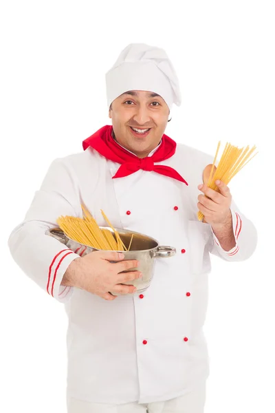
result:
<svg viewBox="0 0 275 413"><path fill-rule="evenodd" d="M126 403L122 405L89 403L68 399L67 413L203 413L206 401L206 383L196 390L167 401L148 404Z"/></svg>

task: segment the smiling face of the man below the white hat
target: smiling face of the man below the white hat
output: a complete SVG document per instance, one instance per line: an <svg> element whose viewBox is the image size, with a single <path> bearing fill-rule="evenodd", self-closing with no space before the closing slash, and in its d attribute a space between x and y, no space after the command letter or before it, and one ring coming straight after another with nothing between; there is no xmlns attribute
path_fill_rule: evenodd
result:
<svg viewBox="0 0 275 413"><path fill-rule="evenodd" d="M131 90L113 100L109 109L115 140L124 148L145 158L159 145L168 122L169 108L156 93ZM139 133L142 129L146 133Z"/></svg>

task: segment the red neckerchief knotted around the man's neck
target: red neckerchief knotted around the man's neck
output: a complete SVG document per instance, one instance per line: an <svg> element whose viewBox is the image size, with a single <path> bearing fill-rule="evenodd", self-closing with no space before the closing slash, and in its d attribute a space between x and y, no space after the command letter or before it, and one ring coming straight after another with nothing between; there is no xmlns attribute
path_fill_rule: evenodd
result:
<svg viewBox="0 0 275 413"><path fill-rule="evenodd" d="M131 173L143 169L144 171L161 173L162 175L177 179L188 185L186 180L184 180L175 169L166 167L165 165L155 165L155 162L162 162L174 155L177 147L175 140L164 134L162 135L161 145L159 145L152 156L138 158L118 145L118 142L113 139L112 130L112 125L105 125L98 129L95 134L83 140L83 149L92 147L96 149L100 155L104 156L104 158L120 163L121 167L118 168L113 178L123 178L124 176L131 175Z"/></svg>

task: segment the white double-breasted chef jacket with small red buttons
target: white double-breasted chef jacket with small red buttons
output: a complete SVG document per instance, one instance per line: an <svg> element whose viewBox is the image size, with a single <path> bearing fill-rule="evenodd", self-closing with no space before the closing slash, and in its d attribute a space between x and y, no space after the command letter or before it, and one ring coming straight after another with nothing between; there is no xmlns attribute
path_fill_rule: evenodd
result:
<svg viewBox="0 0 275 413"><path fill-rule="evenodd" d="M243 261L257 242L254 225L234 200L236 245L230 251L221 248L210 224L197 220L197 186L212 161L206 153L177 144L171 158L156 163L173 167L188 186L154 171L112 179L120 165L91 147L50 165L9 246L23 272L65 306L68 396L91 403L150 403L180 396L208 377L203 324L210 253ZM102 209L113 226L177 249L174 257L155 260L151 286L142 295L106 301L61 285L79 255L45 232L57 226L60 215L83 217L82 203L99 225L106 225Z"/></svg>

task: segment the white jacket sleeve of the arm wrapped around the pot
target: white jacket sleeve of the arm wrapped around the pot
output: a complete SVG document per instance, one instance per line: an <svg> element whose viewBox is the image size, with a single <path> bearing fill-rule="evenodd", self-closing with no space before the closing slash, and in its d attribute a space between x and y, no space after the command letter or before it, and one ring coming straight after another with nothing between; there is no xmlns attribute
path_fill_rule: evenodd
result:
<svg viewBox="0 0 275 413"><path fill-rule="evenodd" d="M58 226L60 215L82 216L74 171L56 159L36 191L30 209L10 234L8 246L21 270L58 301L69 300L73 287L61 285L69 264L79 257L46 231Z"/></svg>

